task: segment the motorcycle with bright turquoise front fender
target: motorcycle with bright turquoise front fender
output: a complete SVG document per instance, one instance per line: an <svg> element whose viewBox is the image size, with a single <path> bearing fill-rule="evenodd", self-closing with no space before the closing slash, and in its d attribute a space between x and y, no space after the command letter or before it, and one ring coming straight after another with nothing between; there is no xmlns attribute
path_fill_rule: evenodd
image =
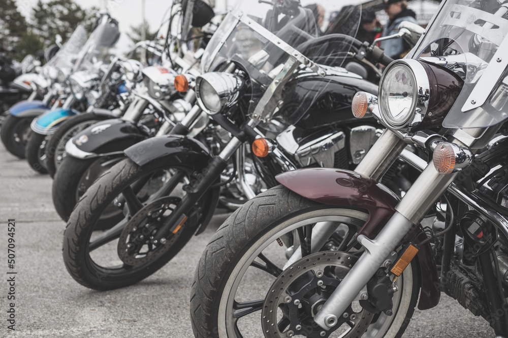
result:
<svg viewBox="0 0 508 338"><path fill-rule="evenodd" d="M109 49L119 39L118 22L108 13L100 14L97 21L98 26L79 52L73 67L65 71L66 85L69 86L71 95L61 108L46 112L30 124L32 132L26 143L25 157L30 167L40 173L47 173L45 153L50 135L55 133L63 121L86 110L89 101L86 95L93 94L94 87L98 86L104 74L110 71ZM103 103L106 106L98 108L110 105L110 102Z"/></svg>

